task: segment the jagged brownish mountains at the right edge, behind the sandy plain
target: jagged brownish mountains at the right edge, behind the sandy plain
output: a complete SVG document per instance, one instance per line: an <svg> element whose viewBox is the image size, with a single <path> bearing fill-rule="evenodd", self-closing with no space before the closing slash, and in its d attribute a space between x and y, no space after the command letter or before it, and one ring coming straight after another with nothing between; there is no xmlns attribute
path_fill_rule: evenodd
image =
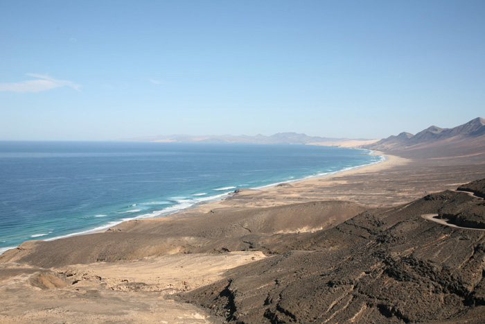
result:
<svg viewBox="0 0 485 324"><path fill-rule="evenodd" d="M369 144L365 148L399 152L405 157L485 156L485 119L475 118L455 128L431 126L416 135L400 133Z"/></svg>

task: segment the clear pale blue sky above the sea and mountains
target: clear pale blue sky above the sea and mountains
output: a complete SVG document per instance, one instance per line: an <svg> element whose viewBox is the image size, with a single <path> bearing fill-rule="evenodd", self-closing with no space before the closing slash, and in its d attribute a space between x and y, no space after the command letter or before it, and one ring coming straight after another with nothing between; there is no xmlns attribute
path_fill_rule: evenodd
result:
<svg viewBox="0 0 485 324"><path fill-rule="evenodd" d="M485 117L485 1L0 1L0 140L380 139Z"/></svg>

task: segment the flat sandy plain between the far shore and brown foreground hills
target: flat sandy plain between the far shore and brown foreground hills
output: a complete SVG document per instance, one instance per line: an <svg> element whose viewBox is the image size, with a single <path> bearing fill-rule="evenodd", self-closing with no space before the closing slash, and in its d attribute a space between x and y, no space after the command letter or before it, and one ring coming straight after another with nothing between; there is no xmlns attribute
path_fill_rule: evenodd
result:
<svg viewBox="0 0 485 324"><path fill-rule="evenodd" d="M352 201L369 207L395 206L443 189L455 189L484 174L480 165L411 160L374 152L386 159L333 175L299 180L265 189L243 189L222 201L198 205L173 216L206 213L217 208L274 207L311 201Z"/></svg>

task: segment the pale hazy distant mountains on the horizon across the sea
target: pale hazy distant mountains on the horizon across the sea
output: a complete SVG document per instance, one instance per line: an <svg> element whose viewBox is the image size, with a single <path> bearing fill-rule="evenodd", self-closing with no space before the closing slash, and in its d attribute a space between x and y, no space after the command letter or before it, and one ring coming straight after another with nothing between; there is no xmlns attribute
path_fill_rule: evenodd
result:
<svg viewBox="0 0 485 324"><path fill-rule="evenodd" d="M123 139L130 142L179 142L179 143L252 143L252 144L310 144L321 142L345 142L348 139L308 136L299 133L277 133L271 136L249 135L169 135Z"/></svg>

